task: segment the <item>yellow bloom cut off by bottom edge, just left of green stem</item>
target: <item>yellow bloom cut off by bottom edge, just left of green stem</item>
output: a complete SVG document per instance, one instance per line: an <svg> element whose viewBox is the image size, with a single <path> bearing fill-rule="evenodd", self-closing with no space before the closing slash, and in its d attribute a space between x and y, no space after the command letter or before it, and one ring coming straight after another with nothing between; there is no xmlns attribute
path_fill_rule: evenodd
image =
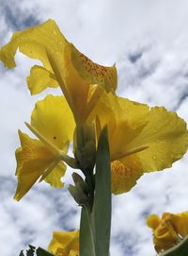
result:
<svg viewBox="0 0 188 256"><path fill-rule="evenodd" d="M79 230L71 232L55 231L48 250L55 256L79 255Z"/></svg>

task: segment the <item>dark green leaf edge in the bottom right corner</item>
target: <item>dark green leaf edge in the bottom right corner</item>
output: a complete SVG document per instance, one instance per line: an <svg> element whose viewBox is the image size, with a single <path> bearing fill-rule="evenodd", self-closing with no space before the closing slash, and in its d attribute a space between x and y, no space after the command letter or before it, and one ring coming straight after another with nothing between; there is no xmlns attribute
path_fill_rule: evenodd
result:
<svg viewBox="0 0 188 256"><path fill-rule="evenodd" d="M188 235L176 247L166 250L160 256L187 256L188 255Z"/></svg>

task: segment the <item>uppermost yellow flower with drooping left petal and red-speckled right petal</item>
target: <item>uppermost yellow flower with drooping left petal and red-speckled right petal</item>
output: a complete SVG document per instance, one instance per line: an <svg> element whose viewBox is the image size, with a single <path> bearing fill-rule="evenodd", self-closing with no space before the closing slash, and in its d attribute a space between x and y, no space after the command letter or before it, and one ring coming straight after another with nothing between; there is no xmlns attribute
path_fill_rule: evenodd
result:
<svg viewBox="0 0 188 256"><path fill-rule="evenodd" d="M103 91L116 91L116 67L104 67L87 59L65 39L53 20L14 33L0 49L0 60L6 67L15 67L17 48L43 64L33 66L27 77L31 94L59 85L76 122L86 120Z"/></svg>

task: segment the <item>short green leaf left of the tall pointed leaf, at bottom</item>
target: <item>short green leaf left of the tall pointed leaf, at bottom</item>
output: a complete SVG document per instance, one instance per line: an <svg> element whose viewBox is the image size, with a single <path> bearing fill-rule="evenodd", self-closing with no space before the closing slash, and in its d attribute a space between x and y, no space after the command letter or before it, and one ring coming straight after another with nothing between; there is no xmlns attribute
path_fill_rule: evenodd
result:
<svg viewBox="0 0 188 256"><path fill-rule="evenodd" d="M79 240L80 256L96 256L90 214L86 207L82 207Z"/></svg>

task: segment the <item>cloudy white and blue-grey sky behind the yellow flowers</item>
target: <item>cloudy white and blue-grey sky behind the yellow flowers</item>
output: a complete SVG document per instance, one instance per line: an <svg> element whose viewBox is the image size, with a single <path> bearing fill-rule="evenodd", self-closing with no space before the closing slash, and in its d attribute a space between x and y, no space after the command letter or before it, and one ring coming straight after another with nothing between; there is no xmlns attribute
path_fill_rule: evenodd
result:
<svg viewBox="0 0 188 256"><path fill-rule="evenodd" d="M188 122L188 2L186 0L0 0L0 45L13 31L55 19L62 33L91 60L116 62L118 94L150 106L177 111ZM53 230L79 226L80 209L66 187L36 184L18 203L14 151L18 128L28 131L35 102L25 77L32 64L16 56L17 67L0 63L0 248L2 256L19 255L28 244L47 247ZM188 211L188 157L173 167L144 175L130 193L113 196L111 255L154 256L146 215Z"/></svg>

